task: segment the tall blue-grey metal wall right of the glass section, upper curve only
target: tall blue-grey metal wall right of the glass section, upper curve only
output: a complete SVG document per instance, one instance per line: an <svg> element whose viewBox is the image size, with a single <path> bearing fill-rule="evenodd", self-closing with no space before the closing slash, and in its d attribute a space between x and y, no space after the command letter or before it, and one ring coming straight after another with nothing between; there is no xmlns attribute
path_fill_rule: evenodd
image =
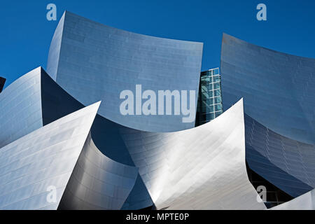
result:
<svg viewBox="0 0 315 224"><path fill-rule="evenodd" d="M287 55L223 34L223 107L244 111L269 130L315 143L315 59Z"/></svg>

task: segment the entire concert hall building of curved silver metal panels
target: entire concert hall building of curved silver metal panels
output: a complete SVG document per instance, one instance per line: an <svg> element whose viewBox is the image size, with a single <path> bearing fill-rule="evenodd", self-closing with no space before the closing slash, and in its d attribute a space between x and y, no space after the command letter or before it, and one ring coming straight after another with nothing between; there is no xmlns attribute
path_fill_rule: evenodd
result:
<svg viewBox="0 0 315 224"><path fill-rule="evenodd" d="M0 209L315 209L315 59L221 46L201 71L203 43L66 11L47 68L0 78ZM139 113L160 90L174 114Z"/></svg>

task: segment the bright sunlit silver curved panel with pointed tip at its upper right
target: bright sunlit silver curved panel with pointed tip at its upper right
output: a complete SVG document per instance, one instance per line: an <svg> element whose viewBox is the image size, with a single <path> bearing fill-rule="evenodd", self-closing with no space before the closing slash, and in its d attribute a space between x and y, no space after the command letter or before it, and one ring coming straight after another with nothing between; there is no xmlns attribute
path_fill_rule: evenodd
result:
<svg viewBox="0 0 315 224"><path fill-rule="evenodd" d="M265 209L246 174L242 101L191 130L123 137L157 209Z"/></svg>

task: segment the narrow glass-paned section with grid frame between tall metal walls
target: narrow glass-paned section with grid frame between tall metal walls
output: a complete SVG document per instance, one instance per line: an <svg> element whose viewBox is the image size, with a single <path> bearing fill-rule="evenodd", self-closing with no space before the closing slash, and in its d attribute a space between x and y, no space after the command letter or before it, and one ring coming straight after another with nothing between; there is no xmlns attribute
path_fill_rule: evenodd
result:
<svg viewBox="0 0 315 224"><path fill-rule="evenodd" d="M223 113L221 76L219 69L209 69L200 74L195 126L214 120Z"/></svg>

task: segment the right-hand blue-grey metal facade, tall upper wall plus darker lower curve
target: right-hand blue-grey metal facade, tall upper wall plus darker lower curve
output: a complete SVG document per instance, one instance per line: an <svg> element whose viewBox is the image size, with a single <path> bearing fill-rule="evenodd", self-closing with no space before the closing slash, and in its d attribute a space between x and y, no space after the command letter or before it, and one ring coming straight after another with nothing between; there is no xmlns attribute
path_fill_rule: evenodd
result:
<svg viewBox="0 0 315 224"><path fill-rule="evenodd" d="M293 197L315 187L315 59L223 35L223 106L244 97L249 167Z"/></svg>

